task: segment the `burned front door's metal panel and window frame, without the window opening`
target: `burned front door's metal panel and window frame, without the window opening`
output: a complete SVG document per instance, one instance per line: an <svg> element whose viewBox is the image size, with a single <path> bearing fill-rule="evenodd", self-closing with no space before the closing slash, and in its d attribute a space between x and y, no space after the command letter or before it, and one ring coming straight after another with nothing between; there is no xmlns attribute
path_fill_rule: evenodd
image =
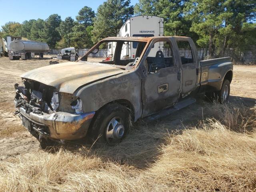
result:
<svg viewBox="0 0 256 192"><path fill-rule="evenodd" d="M172 47L176 44L173 38L162 37L152 39L144 57L142 58L143 66L147 71L147 55L154 43L158 41L170 42ZM173 48L173 50L175 49ZM178 73L180 73L179 59L180 57L178 52L176 52L176 54L174 53L174 66L162 68L154 74L146 73L144 78L142 78L142 117L146 117L162 109L168 108L178 101L181 90L181 81L178 80ZM165 86L166 89L163 92L158 92L159 88L163 88Z"/></svg>

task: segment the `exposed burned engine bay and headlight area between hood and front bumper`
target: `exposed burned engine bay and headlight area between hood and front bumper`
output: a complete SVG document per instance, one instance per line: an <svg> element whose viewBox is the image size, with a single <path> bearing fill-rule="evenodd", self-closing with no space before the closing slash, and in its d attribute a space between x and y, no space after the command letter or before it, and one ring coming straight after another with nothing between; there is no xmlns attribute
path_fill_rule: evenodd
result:
<svg viewBox="0 0 256 192"><path fill-rule="evenodd" d="M72 94L61 93L37 81L23 79L24 86L15 84L16 108L26 109L26 113L52 114L62 111L71 114L83 113L82 101ZM60 103L60 100L62 102Z"/></svg>

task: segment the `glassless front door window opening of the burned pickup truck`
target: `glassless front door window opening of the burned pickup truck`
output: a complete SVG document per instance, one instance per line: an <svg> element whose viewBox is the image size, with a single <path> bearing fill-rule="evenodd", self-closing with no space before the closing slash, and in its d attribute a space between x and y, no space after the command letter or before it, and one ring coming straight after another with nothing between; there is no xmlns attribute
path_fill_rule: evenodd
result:
<svg viewBox="0 0 256 192"><path fill-rule="evenodd" d="M170 42L155 42L146 59L148 73L156 73L162 68L174 66Z"/></svg>

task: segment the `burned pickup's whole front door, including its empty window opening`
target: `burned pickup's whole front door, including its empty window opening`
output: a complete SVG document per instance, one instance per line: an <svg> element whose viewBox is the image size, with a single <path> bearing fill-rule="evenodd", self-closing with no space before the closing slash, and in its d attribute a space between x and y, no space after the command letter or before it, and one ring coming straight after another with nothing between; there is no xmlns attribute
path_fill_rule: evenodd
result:
<svg viewBox="0 0 256 192"><path fill-rule="evenodd" d="M142 117L159 112L178 101L180 67L174 62L174 55L169 38L161 41L154 39L150 43L144 62L148 72L142 79Z"/></svg>

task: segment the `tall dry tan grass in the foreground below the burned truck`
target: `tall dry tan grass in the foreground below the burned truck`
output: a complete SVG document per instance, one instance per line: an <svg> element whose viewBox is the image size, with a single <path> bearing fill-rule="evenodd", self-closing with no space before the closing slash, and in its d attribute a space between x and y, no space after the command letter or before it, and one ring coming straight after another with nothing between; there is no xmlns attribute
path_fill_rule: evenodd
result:
<svg viewBox="0 0 256 192"><path fill-rule="evenodd" d="M132 140L116 146L0 161L0 191L255 191L255 108L211 110L212 118L179 131L135 126Z"/></svg>

